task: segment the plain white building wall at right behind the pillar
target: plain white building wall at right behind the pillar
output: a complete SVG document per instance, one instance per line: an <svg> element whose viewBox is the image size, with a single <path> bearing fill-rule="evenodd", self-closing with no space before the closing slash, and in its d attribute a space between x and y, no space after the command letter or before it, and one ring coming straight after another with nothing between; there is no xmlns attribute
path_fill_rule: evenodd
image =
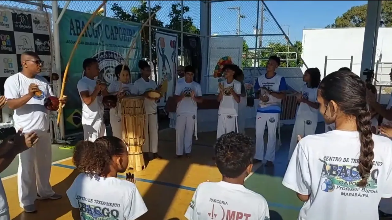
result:
<svg viewBox="0 0 392 220"><path fill-rule="evenodd" d="M302 58L309 68L317 67L329 74L341 67L349 67L352 57L352 72L358 76L361 69L362 49L365 27L304 29L302 32ZM376 60L379 60L377 85L391 85L389 73L392 63L392 27L380 27L377 38ZM326 59L327 56L327 59ZM303 67L305 72L306 67ZM379 90L379 87L377 87ZM390 94L391 88L382 87L381 94ZM382 95L381 102L386 103L389 95Z"/></svg>

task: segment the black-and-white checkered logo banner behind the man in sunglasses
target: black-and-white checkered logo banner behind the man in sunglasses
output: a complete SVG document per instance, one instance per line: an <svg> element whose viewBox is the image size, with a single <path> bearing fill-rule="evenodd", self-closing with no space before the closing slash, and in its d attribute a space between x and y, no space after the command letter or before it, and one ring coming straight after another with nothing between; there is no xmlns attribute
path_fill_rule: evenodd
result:
<svg viewBox="0 0 392 220"><path fill-rule="evenodd" d="M46 15L43 11L23 10L0 5L1 94L4 94L5 79L22 70L20 55L25 51L35 51L44 61L40 75L49 76L51 74L52 54L49 37L51 16L50 13ZM2 111L2 123L13 120L13 111L7 106L0 111Z"/></svg>

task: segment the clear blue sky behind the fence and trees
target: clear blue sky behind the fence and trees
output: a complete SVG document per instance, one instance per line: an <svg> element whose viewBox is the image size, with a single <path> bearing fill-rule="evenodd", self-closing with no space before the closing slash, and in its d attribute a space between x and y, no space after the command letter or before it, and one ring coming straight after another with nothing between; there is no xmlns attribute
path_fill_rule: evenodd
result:
<svg viewBox="0 0 392 220"><path fill-rule="evenodd" d="M3 1L14 7L29 7L21 3ZM64 7L65 1L58 1L60 7ZM71 1L69 9L75 11L94 11L102 1ZM113 16L110 10L111 5L117 3L125 10L129 10L132 6L138 6L139 1L108 1L107 16ZM157 16L165 24L169 23L170 19L167 17L171 4L177 1L151 1L151 5L161 5L162 9L158 12ZM200 2L183 1L185 5L189 6L190 11L185 16L190 16L194 24L200 27ZM302 40L302 30L304 28L323 28L326 25L333 23L337 16L340 16L348 9L356 5L366 4L367 1L265 1L273 16L278 23L282 26L283 31L289 34L291 41ZM51 4L51 1L44 1L44 4ZM257 1L228 1L228 2L215 2L212 3L212 34L219 36L236 34L238 26L236 9L228 9L229 7L240 7L241 14L245 18L241 19L241 34L252 34L253 27L256 27L257 18ZM260 23L260 22L259 22ZM264 33L278 34L281 33L278 26L272 19L268 12L265 12ZM260 26L259 26L260 27ZM254 47L255 38L245 37L249 47ZM282 36L268 36L263 37L263 41L280 41L284 42Z"/></svg>

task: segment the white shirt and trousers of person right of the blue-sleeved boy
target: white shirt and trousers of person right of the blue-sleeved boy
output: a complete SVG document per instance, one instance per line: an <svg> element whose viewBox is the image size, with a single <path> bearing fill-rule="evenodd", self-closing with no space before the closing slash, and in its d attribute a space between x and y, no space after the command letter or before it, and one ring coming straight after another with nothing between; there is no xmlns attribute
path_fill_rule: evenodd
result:
<svg viewBox="0 0 392 220"><path fill-rule="evenodd" d="M317 99L317 87L309 88L307 84L301 88L302 98L312 103L316 102ZM295 146L297 146L297 136L305 137L307 135L314 134L316 132L318 121L318 110L310 107L306 103L300 103L297 115L294 123L293 133L291 135L289 160L294 152Z"/></svg>

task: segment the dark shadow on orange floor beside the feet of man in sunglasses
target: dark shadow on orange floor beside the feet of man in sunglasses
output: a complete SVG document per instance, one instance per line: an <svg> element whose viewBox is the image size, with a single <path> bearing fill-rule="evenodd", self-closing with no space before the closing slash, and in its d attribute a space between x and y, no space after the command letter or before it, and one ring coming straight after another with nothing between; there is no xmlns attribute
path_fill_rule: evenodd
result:
<svg viewBox="0 0 392 220"><path fill-rule="evenodd" d="M74 208L69 204L66 191L78 174L78 171L73 170L67 178L53 186L53 190L62 195L63 198L59 200L36 200L35 205L38 210L36 213L22 212L13 218L13 220L56 220L67 214ZM76 211L78 211L78 209L76 209ZM80 219L80 216L79 218L74 219Z"/></svg>

